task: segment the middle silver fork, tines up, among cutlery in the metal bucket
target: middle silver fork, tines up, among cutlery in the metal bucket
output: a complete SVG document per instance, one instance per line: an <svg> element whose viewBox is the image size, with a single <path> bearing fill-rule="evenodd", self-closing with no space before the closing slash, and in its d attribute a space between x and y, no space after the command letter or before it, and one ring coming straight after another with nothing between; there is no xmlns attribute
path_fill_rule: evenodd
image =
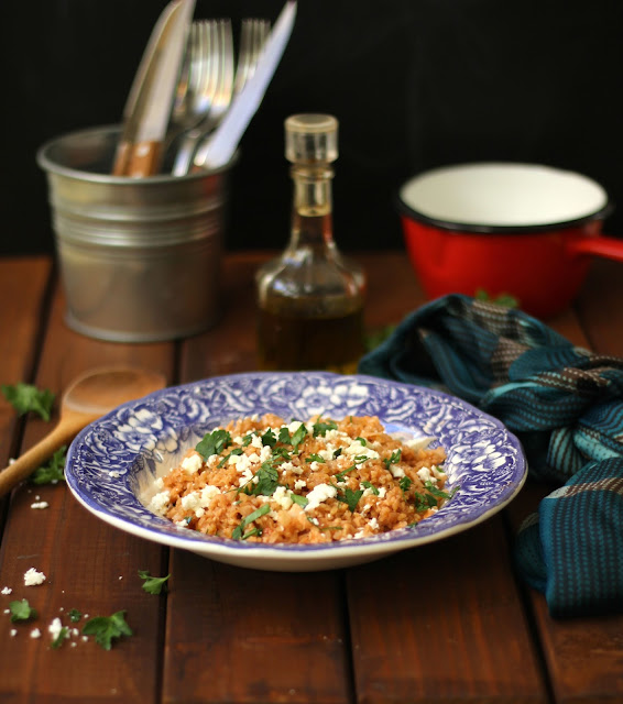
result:
<svg viewBox="0 0 623 704"><path fill-rule="evenodd" d="M203 24L203 23L199 23ZM233 96L233 38L230 20L207 22L209 28L204 41L209 44L209 62L205 66L206 91L195 105L201 119L188 129L175 156L173 174L188 173L197 144L222 120Z"/></svg>

